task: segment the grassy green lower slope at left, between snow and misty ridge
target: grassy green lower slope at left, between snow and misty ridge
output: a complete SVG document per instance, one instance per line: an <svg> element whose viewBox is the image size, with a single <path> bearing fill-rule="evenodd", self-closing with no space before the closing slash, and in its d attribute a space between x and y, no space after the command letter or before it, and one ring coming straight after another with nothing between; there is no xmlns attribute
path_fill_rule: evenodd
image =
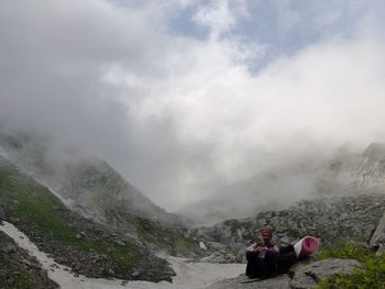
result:
<svg viewBox="0 0 385 289"><path fill-rule="evenodd" d="M130 240L68 211L47 188L0 157L0 203L15 224L56 260L88 277L170 279L167 264Z"/></svg>

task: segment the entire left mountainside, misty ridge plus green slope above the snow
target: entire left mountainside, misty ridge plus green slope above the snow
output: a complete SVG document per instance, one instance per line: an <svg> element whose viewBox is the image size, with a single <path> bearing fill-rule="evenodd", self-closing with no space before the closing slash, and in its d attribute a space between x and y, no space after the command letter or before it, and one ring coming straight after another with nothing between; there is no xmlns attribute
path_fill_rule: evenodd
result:
<svg viewBox="0 0 385 289"><path fill-rule="evenodd" d="M51 151L44 137L0 138L0 220L74 273L170 281L174 271L155 254L204 254L176 215L106 162L74 149Z"/></svg>

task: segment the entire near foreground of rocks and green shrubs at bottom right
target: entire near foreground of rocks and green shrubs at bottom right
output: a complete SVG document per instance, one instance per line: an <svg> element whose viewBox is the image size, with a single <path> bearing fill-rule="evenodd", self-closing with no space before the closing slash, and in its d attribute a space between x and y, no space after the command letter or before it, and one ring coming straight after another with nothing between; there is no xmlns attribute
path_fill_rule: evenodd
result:
<svg viewBox="0 0 385 289"><path fill-rule="evenodd" d="M350 241L327 245L317 256L298 260L287 274L262 280L249 279L242 274L218 281L208 289L381 289L385 284L385 213L367 238L366 244Z"/></svg>

